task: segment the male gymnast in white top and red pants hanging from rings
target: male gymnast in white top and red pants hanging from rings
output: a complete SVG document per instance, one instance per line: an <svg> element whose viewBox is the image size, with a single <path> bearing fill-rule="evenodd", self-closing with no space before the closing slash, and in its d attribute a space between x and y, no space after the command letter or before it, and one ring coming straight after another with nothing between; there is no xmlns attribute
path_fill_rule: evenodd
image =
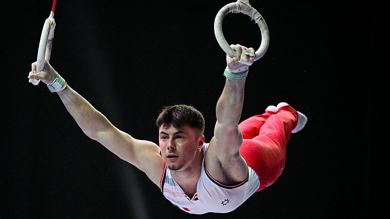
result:
<svg viewBox="0 0 390 219"><path fill-rule="evenodd" d="M239 123L244 101L248 63L254 49L230 45L236 57L226 55L226 77L216 103L214 137L205 143L204 117L189 105L161 110L156 120L159 146L119 130L59 75L45 60L28 75L57 92L78 126L91 139L143 171L163 196L191 214L227 213L280 176L286 145L307 118L289 104L269 106L264 113Z"/></svg>

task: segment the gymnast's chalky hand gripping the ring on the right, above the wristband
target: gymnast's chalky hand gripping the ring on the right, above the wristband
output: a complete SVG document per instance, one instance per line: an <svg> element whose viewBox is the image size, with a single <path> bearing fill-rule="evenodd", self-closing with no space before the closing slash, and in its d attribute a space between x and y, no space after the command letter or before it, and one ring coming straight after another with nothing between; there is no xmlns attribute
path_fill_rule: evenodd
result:
<svg viewBox="0 0 390 219"><path fill-rule="evenodd" d="M241 46L240 44L230 45L237 52L237 57L226 55L226 63L229 71L238 73L248 70L254 62L254 49Z"/></svg>

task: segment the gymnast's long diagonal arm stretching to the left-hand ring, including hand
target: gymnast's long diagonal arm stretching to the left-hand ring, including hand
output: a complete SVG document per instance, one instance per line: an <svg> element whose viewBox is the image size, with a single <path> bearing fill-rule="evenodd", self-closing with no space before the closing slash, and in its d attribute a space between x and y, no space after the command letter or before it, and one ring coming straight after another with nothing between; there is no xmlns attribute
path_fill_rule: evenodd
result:
<svg viewBox="0 0 390 219"><path fill-rule="evenodd" d="M59 74L46 61L42 72L37 73L36 62L32 64L29 82L39 79L45 84L51 84ZM135 165L138 169L159 185L164 160L159 155L160 148L153 142L138 140L116 128L85 98L65 84L65 89L57 91L62 103L76 120L83 132L105 146L119 158ZM59 89L60 90L60 89Z"/></svg>

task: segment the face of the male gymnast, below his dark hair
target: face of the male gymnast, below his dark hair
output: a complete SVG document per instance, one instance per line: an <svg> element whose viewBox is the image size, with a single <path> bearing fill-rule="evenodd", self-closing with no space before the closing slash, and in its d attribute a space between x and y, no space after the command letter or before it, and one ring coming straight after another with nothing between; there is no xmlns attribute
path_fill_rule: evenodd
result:
<svg viewBox="0 0 390 219"><path fill-rule="evenodd" d="M161 156L171 170L189 170L204 143L204 136L198 128L188 125L176 128L172 125L161 125L159 128L159 145Z"/></svg>

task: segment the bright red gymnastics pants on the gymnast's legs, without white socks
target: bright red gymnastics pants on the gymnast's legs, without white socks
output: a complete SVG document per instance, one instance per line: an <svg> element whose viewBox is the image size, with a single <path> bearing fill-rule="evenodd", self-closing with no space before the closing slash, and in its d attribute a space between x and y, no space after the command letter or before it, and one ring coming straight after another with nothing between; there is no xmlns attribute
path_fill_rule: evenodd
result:
<svg viewBox="0 0 390 219"><path fill-rule="evenodd" d="M256 192L270 186L282 174L286 145L297 120L297 111L287 105L277 112L266 110L238 125L244 138L240 154L260 179Z"/></svg>

